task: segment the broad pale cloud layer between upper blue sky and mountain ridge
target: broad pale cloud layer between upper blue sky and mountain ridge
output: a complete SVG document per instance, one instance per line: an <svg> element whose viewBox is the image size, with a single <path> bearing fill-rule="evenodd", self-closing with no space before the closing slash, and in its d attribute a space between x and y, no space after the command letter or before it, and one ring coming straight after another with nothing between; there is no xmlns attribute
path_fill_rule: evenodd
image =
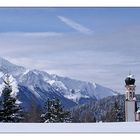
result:
<svg viewBox="0 0 140 140"><path fill-rule="evenodd" d="M46 33L43 37L39 34L44 33L0 33L0 56L27 68L94 80L123 91L128 71L131 69L138 77L140 69L140 30L131 30L94 37L75 33L54 36Z"/></svg>

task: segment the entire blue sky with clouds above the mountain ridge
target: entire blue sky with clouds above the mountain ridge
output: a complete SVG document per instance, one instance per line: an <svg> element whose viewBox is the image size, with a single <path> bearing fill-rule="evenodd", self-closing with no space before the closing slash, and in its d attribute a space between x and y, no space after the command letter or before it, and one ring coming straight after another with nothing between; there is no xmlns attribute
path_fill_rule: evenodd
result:
<svg viewBox="0 0 140 140"><path fill-rule="evenodd" d="M0 56L31 69L140 91L140 8L0 8Z"/></svg>

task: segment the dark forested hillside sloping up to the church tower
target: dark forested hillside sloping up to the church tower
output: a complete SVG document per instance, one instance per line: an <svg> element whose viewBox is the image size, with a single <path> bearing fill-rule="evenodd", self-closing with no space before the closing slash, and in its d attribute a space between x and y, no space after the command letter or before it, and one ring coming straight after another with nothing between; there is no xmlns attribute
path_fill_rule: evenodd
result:
<svg viewBox="0 0 140 140"><path fill-rule="evenodd" d="M140 100L140 95L136 95L137 100ZM125 96L110 96L98 100L96 102L90 102L71 109L73 122L111 122L112 110L115 103L119 107L119 117L122 121L125 120Z"/></svg>

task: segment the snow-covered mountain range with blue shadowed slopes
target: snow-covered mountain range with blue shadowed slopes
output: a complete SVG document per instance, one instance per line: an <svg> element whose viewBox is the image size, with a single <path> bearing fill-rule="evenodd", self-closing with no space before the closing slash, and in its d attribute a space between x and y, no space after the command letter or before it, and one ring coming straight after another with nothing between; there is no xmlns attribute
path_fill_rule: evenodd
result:
<svg viewBox="0 0 140 140"><path fill-rule="evenodd" d="M0 76L5 73L11 74L17 80L18 97L27 108L33 104L43 106L47 98L59 98L64 106L72 107L117 94L96 83L28 70L0 58Z"/></svg>

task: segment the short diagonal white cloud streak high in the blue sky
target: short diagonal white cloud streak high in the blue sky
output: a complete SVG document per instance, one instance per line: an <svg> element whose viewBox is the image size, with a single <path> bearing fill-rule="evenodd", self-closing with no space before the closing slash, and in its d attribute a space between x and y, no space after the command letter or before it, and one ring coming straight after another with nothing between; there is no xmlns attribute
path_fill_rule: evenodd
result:
<svg viewBox="0 0 140 140"><path fill-rule="evenodd" d="M83 33L83 34L92 34L93 31L87 27L84 27L83 25L71 20L71 19L68 19L66 17L63 17L63 16L58 16L58 18L64 22L66 25L70 26L71 28L75 29L76 31L80 32L80 33Z"/></svg>

